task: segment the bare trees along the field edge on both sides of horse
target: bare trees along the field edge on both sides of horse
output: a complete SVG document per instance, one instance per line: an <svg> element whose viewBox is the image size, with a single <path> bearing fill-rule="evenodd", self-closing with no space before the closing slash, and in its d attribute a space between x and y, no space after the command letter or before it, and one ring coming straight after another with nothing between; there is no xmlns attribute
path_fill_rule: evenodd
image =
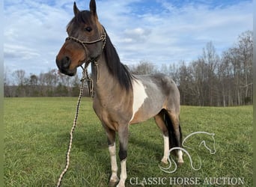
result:
<svg viewBox="0 0 256 187"><path fill-rule="evenodd" d="M129 66L132 73L164 73L171 76L180 90L182 105L232 106L252 104L252 31L245 31L237 43L218 55L212 42L206 44L198 59L189 63L162 64L148 61ZM25 76L13 73L15 84L4 75L4 96L78 96L79 77L68 77L58 70ZM85 96L88 91L85 89Z"/></svg>

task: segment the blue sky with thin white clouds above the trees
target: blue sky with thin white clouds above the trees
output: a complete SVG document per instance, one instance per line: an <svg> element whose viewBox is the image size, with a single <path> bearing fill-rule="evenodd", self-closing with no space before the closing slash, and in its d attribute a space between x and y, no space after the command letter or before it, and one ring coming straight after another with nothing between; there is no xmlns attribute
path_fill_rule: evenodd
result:
<svg viewBox="0 0 256 187"><path fill-rule="evenodd" d="M252 1L98 0L97 15L124 64L190 62L212 42L216 52L252 30ZM76 1L88 10L89 0ZM73 0L4 0L4 68L46 73L67 37Z"/></svg>

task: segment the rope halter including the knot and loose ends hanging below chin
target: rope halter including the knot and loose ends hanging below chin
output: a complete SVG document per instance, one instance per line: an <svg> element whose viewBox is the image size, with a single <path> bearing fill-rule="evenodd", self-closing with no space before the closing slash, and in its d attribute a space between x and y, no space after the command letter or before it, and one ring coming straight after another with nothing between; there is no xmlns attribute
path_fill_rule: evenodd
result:
<svg viewBox="0 0 256 187"><path fill-rule="evenodd" d="M86 59L88 57L87 48L85 46L86 44L93 44L93 43L98 43L100 41L103 41L103 47L101 49L101 52L103 52L103 49L106 45L106 31L103 29L103 34L101 35L100 39L94 40L94 41L82 41L76 37L67 37L66 41L67 40L72 40L72 41L75 41L75 42L81 44L82 47L85 49L85 59ZM80 67L82 67L82 70L83 70L83 77L82 77L81 81L83 82L84 80L87 80L88 91L89 91L89 94L91 97L94 97L94 82L93 82L93 79L91 79L91 77L89 76L87 69L88 69L89 64L93 63L97 70L97 81L100 80L100 71L99 71L99 67L98 67L98 63L97 63L97 59L99 57L100 57L100 55L98 55L96 58L90 58L87 61L84 61L85 67L82 67L82 65L80 66Z"/></svg>

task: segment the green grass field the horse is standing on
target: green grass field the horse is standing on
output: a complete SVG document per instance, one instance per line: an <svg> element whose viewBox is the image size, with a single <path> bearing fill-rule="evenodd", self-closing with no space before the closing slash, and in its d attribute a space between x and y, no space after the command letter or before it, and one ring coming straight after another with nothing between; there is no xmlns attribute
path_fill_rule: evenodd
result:
<svg viewBox="0 0 256 187"><path fill-rule="evenodd" d="M65 165L76 100L70 97L4 98L5 186L56 186ZM130 126L127 186L141 186L141 182L144 186L170 186L170 179L172 186L183 186L181 180L185 183L186 179L190 180L186 186L198 183L198 186L214 186L210 185L214 180L215 186L218 183L219 186L228 186L228 183L239 186L238 182L235 184L239 180L243 186L253 186L252 105L182 106L180 123L183 137L198 131L215 133L216 153L211 155L205 147L195 146L192 157L200 156L201 169L192 170L188 156L184 155L185 163L173 174L167 174L159 169L163 140L153 119ZM198 138L192 138L189 143L197 145ZM108 186L110 174L105 132L94 114L91 99L83 98L70 168L62 186ZM224 177L229 182L224 181ZM199 182L193 184L192 180Z"/></svg>

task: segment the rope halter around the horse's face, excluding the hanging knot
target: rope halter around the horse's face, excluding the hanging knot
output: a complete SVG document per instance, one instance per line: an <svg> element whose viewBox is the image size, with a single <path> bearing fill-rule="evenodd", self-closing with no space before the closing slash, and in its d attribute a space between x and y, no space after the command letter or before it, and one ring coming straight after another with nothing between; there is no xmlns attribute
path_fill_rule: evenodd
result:
<svg viewBox="0 0 256 187"><path fill-rule="evenodd" d="M85 59L88 58L88 54L87 54L87 49L86 49L86 46L87 44L94 44L94 43L98 43L100 41L103 41L103 47L101 49L101 52L103 51L105 45L106 45L106 31L105 29L103 28L103 34L101 35L100 39L98 40L93 40L93 41L82 41L82 40L79 40L78 38L76 37L67 37L66 38L66 41L67 40L72 40L72 41L75 41L79 44L82 45L82 47L85 49ZM99 55L100 56L100 55ZM99 56L97 58L99 58ZM85 60L85 67L88 67L88 65L91 63L91 62L95 62L97 60L97 58L90 58L88 59L87 61Z"/></svg>

